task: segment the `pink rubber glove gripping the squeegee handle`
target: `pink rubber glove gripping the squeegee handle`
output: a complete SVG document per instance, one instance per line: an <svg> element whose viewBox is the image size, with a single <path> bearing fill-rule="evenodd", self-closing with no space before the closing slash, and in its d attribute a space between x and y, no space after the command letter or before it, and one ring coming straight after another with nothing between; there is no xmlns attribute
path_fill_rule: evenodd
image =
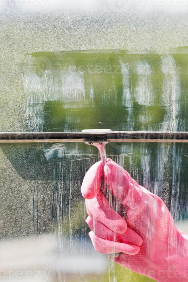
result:
<svg viewBox="0 0 188 282"><path fill-rule="evenodd" d="M101 193L102 176L111 194L125 206L122 218ZM166 205L140 186L111 159L95 163L86 173L82 195L89 214L89 236L103 254L122 266L156 281L188 281L188 235L174 226Z"/></svg>

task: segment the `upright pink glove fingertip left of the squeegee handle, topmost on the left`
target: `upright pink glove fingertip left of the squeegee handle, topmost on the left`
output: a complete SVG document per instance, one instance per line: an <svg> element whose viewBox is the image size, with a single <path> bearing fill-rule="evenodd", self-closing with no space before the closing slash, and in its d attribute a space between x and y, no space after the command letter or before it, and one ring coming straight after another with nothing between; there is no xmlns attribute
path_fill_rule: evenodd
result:
<svg viewBox="0 0 188 282"><path fill-rule="evenodd" d="M102 180L102 162L98 161L86 172L81 192L85 199L93 199L99 191Z"/></svg>

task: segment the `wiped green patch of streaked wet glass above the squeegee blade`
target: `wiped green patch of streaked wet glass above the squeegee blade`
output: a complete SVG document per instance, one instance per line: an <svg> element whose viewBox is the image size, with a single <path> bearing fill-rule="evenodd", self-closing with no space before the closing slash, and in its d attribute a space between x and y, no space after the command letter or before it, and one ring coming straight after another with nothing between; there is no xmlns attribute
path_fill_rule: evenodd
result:
<svg viewBox="0 0 188 282"><path fill-rule="evenodd" d="M188 55L181 50L165 56L35 52L29 58L23 83L30 131L187 130Z"/></svg>

